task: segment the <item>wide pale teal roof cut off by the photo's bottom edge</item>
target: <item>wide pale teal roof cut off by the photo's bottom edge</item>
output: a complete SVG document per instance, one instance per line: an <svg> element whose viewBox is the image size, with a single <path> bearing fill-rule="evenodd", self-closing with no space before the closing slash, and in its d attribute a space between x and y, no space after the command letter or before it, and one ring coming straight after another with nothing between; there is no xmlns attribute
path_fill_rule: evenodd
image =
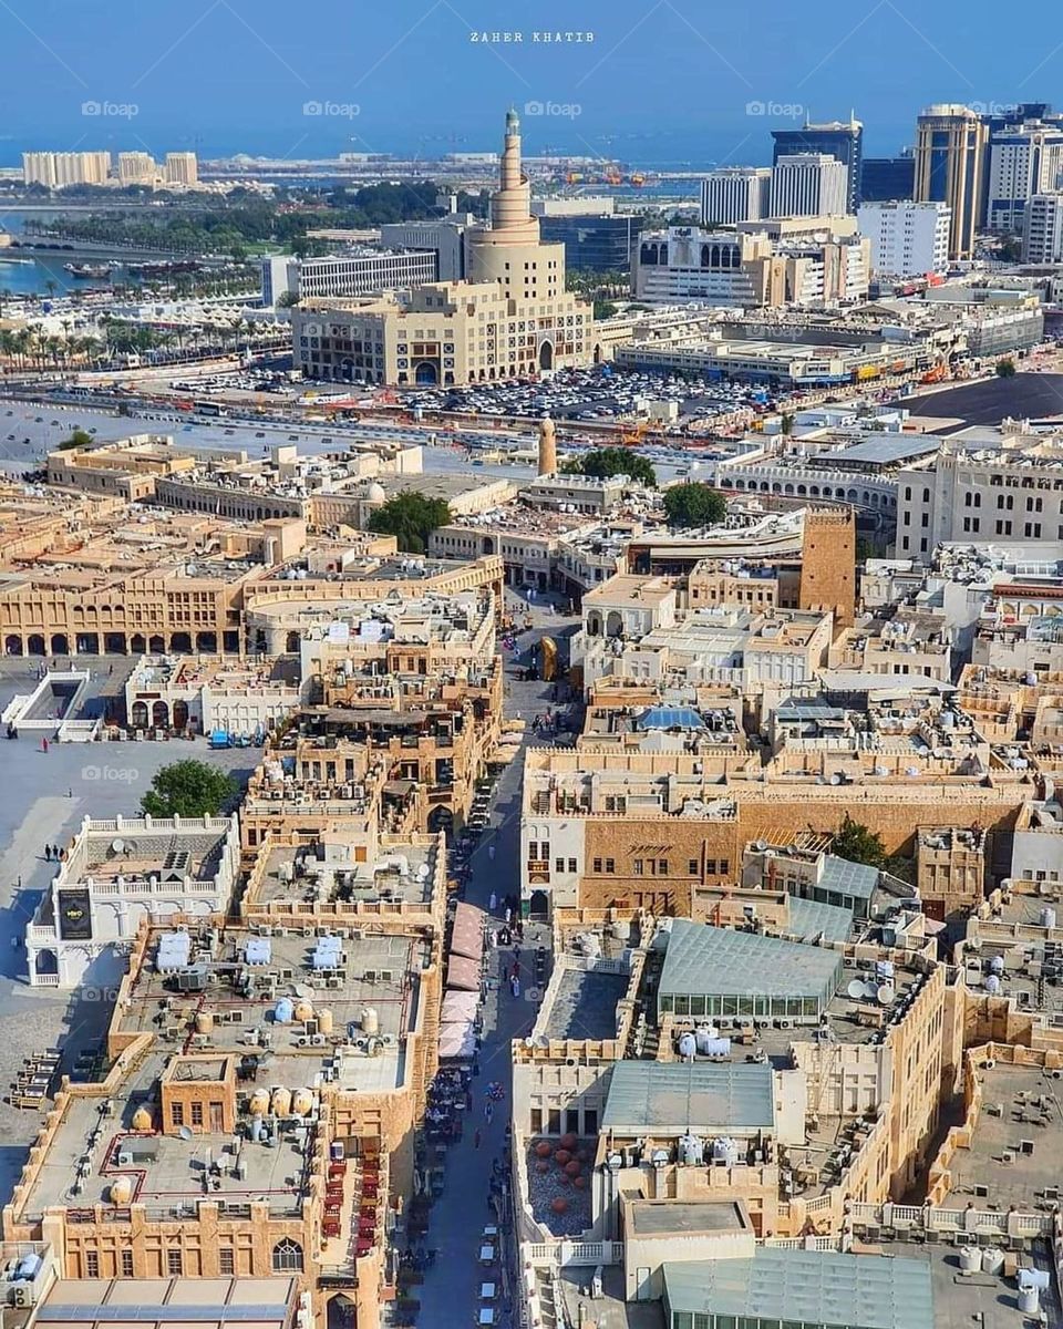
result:
<svg viewBox="0 0 1063 1329"><path fill-rule="evenodd" d="M666 1263L672 1312L852 1329L934 1329L929 1264L873 1255L757 1247L752 1260Z"/></svg>

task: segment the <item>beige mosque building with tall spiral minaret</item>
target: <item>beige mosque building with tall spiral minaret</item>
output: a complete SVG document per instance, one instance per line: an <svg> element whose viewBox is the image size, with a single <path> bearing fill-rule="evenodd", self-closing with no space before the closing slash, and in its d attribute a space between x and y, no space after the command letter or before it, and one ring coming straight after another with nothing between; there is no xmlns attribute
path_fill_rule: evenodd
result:
<svg viewBox="0 0 1063 1329"><path fill-rule="evenodd" d="M530 203L510 110L490 222L466 238L469 279L304 302L292 310L296 368L341 383L446 387L597 363L593 308L566 292L565 246L542 243Z"/></svg>

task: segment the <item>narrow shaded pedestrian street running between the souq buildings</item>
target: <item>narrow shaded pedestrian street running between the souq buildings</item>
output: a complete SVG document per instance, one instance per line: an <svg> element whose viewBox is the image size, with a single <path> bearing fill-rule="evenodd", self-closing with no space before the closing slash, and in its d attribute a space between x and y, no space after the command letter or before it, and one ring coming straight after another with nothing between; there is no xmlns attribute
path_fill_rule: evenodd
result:
<svg viewBox="0 0 1063 1329"><path fill-rule="evenodd" d="M513 597L513 602L517 602L516 597ZM526 606L522 601L520 603L524 611ZM543 631L555 634L563 625L574 622L558 618L539 605L532 606L532 617L534 621L532 633L522 634L518 641L522 650L528 650ZM545 711L551 704L550 691L549 683L524 683L516 679L512 658L508 659L505 699L508 716L530 720L537 712ZM530 742L530 726L526 742ZM541 740L535 738L535 742ZM524 746L498 780L492 805L490 828L481 836L472 860L473 872L465 898L484 909L488 908L492 893L500 900L510 893L520 896L522 754ZM490 855L492 845L494 845L494 857ZM496 909L496 924L501 922L500 914L501 905ZM525 928L524 952L530 957L530 952L537 945L546 946L549 953L549 928L529 925ZM506 954L501 962L505 964L508 958ZM530 960L521 962L521 970L522 979L526 979L530 971ZM492 979L500 977L497 952L492 956L490 977ZM504 1160L505 1130L510 1118L510 1043L514 1038L524 1038L534 1025L538 994L534 989L529 993L526 982L522 982L518 998L510 995L505 982L492 986L494 990L488 993L482 1007L484 1034L480 1049L480 1074L473 1080L472 1120L465 1127L462 1139L449 1150L446 1185L442 1196L432 1208L427 1237L427 1245L436 1249L437 1256L435 1265L425 1273L420 1289L423 1308L420 1322L431 1325L431 1329L469 1329L477 1322L481 1282L500 1281L498 1265L485 1269L478 1264L478 1237L485 1224L496 1221L488 1205L488 1196L492 1162L494 1159ZM488 1122L484 1115L485 1087L492 1080L498 1080L505 1087L505 1099L496 1106L492 1120ZM474 1142L477 1130L481 1136L478 1148ZM509 1177L508 1167L506 1177ZM497 1306L501 1310L501 1324L508 1329L516 1324L512 1304L513 1275L516 1273L512 1223L505 1225L504 1236L510 1265L506 1282L510 1296L500 1297Z"/></svg>

